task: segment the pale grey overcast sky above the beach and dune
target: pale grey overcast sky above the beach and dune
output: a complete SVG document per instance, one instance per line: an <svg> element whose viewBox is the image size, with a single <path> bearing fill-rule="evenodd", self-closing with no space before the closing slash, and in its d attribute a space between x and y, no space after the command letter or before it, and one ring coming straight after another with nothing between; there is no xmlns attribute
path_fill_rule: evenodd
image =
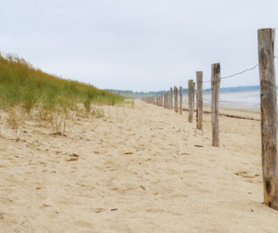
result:
<svg viewBox="0 0 278 233"><path fill-rule="evenodd" d="M212 63L221 77L254 67L263 28L278 38L277 0L0 1L1 52L102 89L187 88L196 71L210 80ZM259 67L220 87L247 85L259 85Z"/></svg>

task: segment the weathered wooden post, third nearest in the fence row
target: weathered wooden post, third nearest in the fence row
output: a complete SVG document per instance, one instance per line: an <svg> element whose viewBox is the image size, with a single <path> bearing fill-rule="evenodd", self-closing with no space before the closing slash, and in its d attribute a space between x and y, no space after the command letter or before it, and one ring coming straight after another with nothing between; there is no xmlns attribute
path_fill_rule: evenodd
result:
<svg viewBox="0 0 278 233"><path fill-rule="evenodd" d="M197 81L197 129L203 130L203 72L196 72Z"/></svg>

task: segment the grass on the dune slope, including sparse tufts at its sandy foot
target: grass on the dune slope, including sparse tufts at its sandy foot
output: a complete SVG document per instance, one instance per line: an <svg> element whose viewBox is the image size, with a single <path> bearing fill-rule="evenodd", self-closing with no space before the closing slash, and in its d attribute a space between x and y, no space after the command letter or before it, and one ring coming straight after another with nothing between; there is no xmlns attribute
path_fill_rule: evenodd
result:
<svg viewBox="0 0 278 233"><path fill-rule="evenodd" d="M8 112L5 120L15 131L16 140L28 118L35 118L41 127L51 126L54 134L66 136L74 127L67 119L76 121L88 115L103 118L101 105L122 102L122 97L106 90L47 74L24 58L0 53L0 109Z"/></svg>

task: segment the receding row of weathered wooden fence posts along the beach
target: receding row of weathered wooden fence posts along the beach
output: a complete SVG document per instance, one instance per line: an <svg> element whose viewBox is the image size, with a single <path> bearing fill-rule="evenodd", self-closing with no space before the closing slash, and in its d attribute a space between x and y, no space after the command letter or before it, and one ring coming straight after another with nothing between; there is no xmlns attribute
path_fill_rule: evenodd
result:
<svg viewBox="0 0 278 233"><path fill-rule="evenodd" d="M261 88L261 150L263 166L264 204L278 210L278 160L277 160L277 86L275 81L275 29L258 30L259 77ZM220 63L211 65L211 127L212 145L220 146L219 136L219 90ZM202 72L196 73L197 80L197 129L203 129ZM188 80L188 122L193 122L195 83ZM180 88L180 99L182 91ZM172 109L172 88L171 109ZM162 98L162 95L161 95ZM143 98L155 104L155 98ZM180 100L182 102L182 100ZM179 106L181 114L181 104ZM177 113L177 88L174 87L174 111Z"/></svg>

